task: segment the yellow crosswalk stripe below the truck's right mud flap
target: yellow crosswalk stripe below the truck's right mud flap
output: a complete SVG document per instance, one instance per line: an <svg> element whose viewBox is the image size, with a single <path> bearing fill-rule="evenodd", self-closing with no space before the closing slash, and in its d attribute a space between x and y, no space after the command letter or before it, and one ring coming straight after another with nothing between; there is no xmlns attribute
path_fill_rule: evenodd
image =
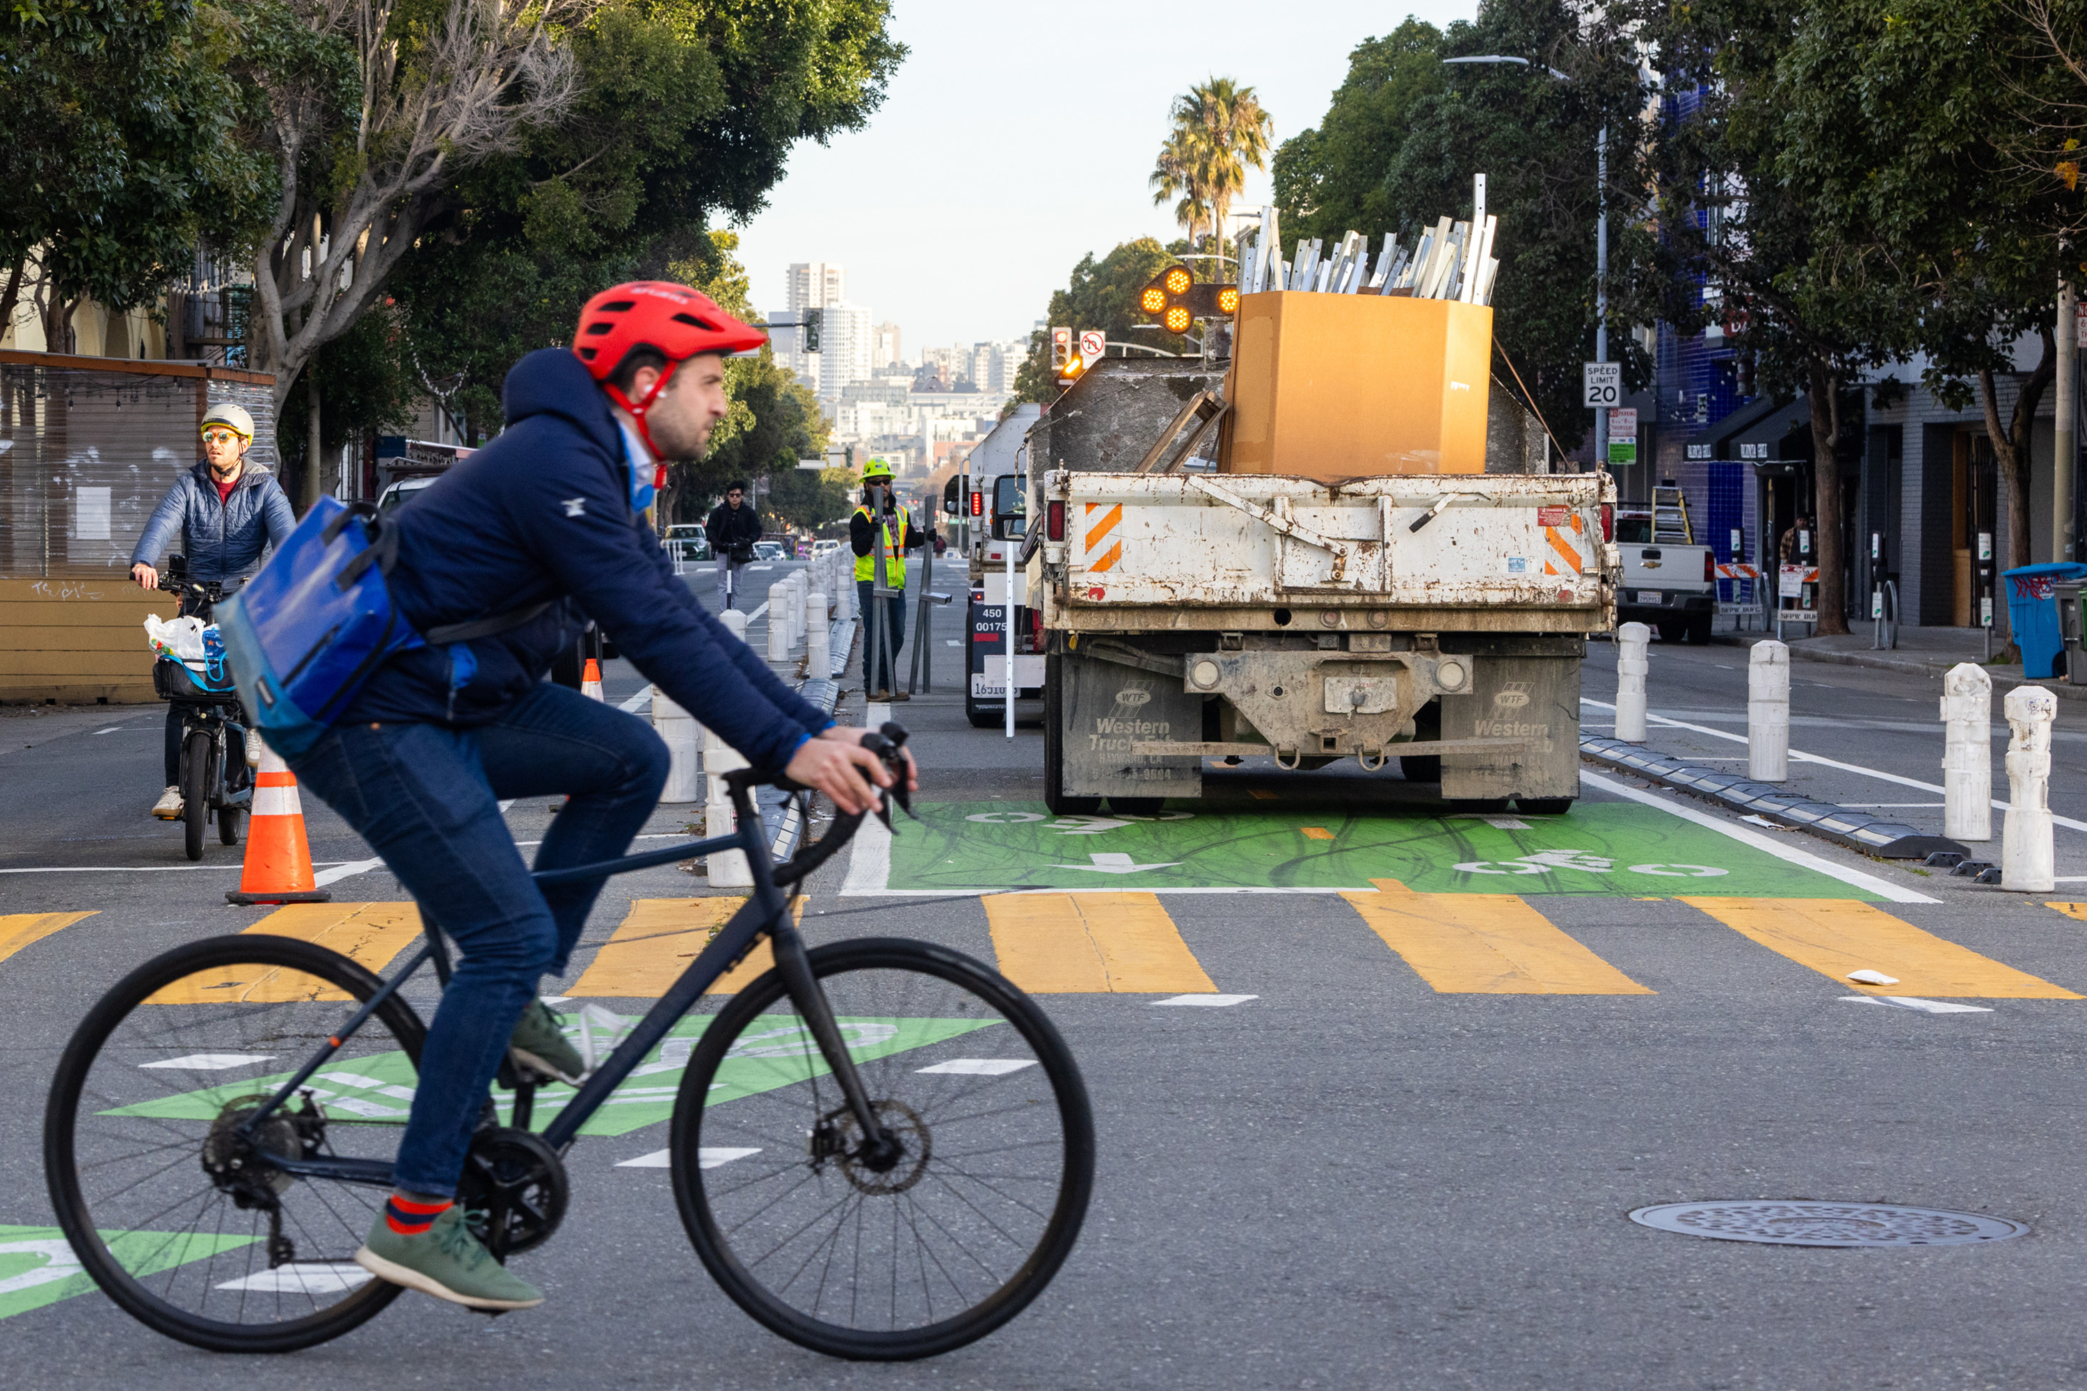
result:
<svg viewBox="0 0 2087 1391"><path fill-rule="evenodd" d="M1440 995L1653 995L1511 893L1340 895Z"/></svg>

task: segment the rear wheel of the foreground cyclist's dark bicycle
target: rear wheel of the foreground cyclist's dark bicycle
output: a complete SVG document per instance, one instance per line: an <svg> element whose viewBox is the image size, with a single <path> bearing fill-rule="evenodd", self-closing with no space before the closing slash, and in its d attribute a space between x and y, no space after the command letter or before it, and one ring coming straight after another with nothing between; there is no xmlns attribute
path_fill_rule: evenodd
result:
<svg viewBox="0 0 2087 1391"><path fill-rule="evenodd" d="M265 1153L388 1164L424 1028L392 995L271 1114L240 1122L380 980L290 936L213 936L125 976L81 1022L44 1112L58 1226L111 1299L213 1351L292 1351L399 1295L353 1262L384 1187L301 1178Z"/></svg>

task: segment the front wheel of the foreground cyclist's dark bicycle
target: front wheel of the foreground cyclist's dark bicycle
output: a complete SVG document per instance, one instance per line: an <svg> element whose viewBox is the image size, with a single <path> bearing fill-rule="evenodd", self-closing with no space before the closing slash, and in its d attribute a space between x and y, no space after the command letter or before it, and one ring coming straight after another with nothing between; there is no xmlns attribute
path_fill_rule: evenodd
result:
<svg viewBox="0 0 2087 1391"><path fill-rule="evenodd" d="M710 1024L674 1105L682 1224L770 1331L897 1362L1014 1318L1094 1191L1094 1116L1035 1003L970 957L897 938L810 953L881 1128L864 1143L776 972Z"/></svg>

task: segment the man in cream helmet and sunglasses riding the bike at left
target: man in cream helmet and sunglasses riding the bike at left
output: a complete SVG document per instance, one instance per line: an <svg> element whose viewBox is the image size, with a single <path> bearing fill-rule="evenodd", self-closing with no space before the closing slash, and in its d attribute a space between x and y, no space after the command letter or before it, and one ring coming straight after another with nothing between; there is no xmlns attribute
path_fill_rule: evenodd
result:
<svg viewBox="0 0 2087 1391"><path fill-rule="evenodd" d="M159 557L175 540L188 557L190 580L221 580L225 592L238 588L261 569L267 546L280 546L296 528L296 513L275 478L259 463L248 463L255 442L255 417L230 400L202 417L202 459L173 480L167 496L152 509L144 534L131 548L131 578L138 588L159 588ZM175 822L182 817L182 707L167 705L167 790L152 815Z"/></svg>

